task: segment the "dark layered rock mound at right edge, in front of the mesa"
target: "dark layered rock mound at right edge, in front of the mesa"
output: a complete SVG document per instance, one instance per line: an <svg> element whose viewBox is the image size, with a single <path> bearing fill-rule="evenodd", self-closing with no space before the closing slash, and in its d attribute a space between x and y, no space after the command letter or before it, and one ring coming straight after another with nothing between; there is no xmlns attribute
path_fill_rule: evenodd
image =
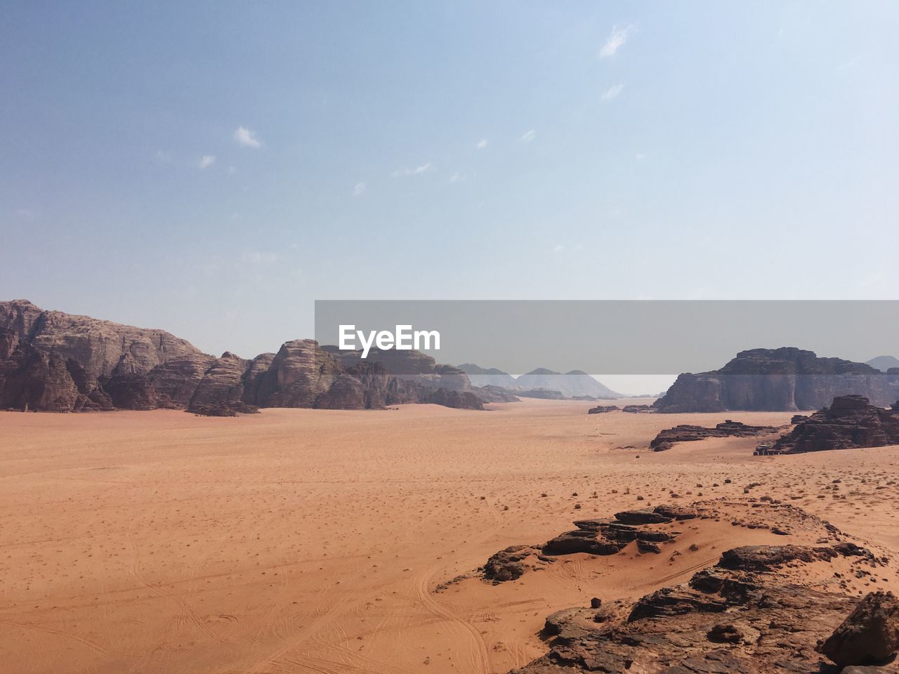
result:
<svg viewBox="0 0 899 674"><path fill-rule="evenodd" d="M800 420L774 444L773 451L792 454L886 445L899 445L899 409L876 407L861 395L842 395Z"/></svg>

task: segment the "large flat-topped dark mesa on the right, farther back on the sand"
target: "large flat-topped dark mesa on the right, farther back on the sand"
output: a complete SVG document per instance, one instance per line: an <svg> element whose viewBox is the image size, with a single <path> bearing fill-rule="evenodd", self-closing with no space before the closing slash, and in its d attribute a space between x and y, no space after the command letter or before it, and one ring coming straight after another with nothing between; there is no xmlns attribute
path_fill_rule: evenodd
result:
<svg viewBox="0 0 899 674"><path fill-rule="evenodd" d="M818 410L850 394L890 404L899 398L899 373L795 348L755 349L719 370L679 376L653 406L657 412L790 412Z"/></svg>

